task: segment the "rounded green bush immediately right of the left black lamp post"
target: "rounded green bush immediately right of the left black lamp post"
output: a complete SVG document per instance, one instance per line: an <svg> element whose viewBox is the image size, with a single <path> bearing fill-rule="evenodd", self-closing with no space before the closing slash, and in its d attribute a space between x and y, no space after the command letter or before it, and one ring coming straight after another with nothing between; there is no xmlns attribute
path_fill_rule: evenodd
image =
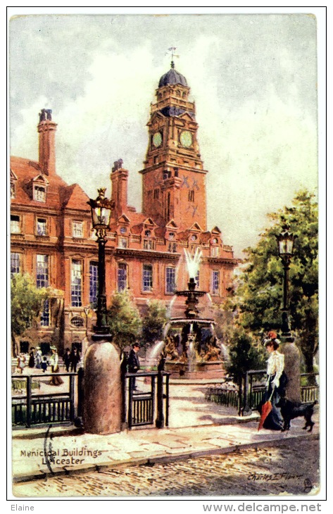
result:
<svg viewBox="0 0 333 514"><path fill-rule="evenodd" d="M113 335L113 342L120 350L140 337L142 319L127 291L113 294L107 322Z"/></svg>

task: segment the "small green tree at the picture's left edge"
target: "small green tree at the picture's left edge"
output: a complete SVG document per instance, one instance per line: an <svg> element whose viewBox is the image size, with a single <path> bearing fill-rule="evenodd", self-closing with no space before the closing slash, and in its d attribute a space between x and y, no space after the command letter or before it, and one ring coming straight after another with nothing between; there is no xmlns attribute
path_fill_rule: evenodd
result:
<svg viewBox="0 0 333 514"><path fill-rule="evenodd" d="M43 302L51 298L52 290L38 288L30 275L15 274L11 277L11 340L13 356L18 355L15 337L22 335L38 317Z"/></svg>

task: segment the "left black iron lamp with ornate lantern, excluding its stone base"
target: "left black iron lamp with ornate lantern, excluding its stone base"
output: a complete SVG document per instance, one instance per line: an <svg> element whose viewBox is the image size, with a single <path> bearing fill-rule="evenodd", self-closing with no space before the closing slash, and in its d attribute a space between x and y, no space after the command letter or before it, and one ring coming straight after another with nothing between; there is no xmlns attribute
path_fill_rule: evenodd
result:
<svg viewBox="0 0 333 514"><path fill-rule="evenodd" d="M99 339L110 340L111 335L108 333L108 325L106 323L106 285L105 285L105 245L106 230L110 225L111 211L114 207L114 201L105 197L106 188L98 189L99 196L96 200L89 199L87 202L92 209L92 226L96 230L97 242L99 244L99 266L98 266L98 294L97 294L97 321L94 326L93 341Z"/></svg>

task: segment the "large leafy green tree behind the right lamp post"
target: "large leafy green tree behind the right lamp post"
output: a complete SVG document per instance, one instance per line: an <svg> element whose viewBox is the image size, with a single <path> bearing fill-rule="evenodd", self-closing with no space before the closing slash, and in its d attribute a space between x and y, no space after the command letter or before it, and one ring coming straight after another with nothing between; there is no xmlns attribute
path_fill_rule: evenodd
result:
<svg viewBox="0 0 333 514"><path fill-rule="evenodd" d="M313 372L318 350L318 203L314 194L296 194L291 207L268 215L270 226L260 234L246 258L233 296L237 321L258 337L282 321L283 267L276 237L287 224L297 238L289 270L289 323L304 356L306 372Z"/></svg>

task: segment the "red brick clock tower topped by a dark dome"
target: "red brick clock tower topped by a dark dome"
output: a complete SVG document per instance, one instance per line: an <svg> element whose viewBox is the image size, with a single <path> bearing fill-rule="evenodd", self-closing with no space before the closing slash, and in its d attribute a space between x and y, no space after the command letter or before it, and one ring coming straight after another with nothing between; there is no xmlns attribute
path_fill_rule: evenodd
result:
<svg viewBox="0 0 333 514"><path fill-rule="evenodd" d="M172 61L156 89L148 122L149 144L142 173L142 212L165 226L174 220L180 230L206 222L206 170L197 141L194 102L186 78Z"/></svg>

